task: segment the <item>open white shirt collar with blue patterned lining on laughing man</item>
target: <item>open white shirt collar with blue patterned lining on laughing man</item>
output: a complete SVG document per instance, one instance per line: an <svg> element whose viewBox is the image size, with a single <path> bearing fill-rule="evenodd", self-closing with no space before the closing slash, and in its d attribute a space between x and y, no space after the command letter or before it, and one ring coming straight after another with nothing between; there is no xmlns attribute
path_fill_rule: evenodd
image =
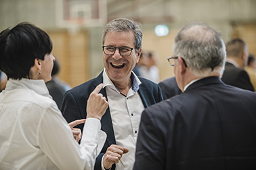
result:
<svg viewBox="0 0 256 170"><path fill-rule="evenodd" d="M140 82L140 79L137 78L137 76L133 73L133 71L131 71L131 89L134 91L134 92L137 92L137 90L140 89L140 84L142 84L142 82ZM106 69L104 68L104 71L103 71L103 88L106 87L106 86L112 86L114 87L116 90L118 90L113 82L110 80L110 78L108 78L108 75L106 74ZM119 90L118 90L119 91Z"/></svg>

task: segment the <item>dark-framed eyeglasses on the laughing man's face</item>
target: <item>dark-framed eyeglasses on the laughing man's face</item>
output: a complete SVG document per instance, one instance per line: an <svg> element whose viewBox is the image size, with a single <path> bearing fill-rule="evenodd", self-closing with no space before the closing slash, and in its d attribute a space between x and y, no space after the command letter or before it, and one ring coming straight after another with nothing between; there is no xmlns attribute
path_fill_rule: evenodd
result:
<svg viewBox="0 0 256 170"><path fill-rule="evenodd" d="M112 47L112 46L102 46L103 52L106 55L114 55L116 52L116 49L119 49L119 54L123 57L128 57L131 55L131 51L133 51L133 48L130 47Z"/></svg>

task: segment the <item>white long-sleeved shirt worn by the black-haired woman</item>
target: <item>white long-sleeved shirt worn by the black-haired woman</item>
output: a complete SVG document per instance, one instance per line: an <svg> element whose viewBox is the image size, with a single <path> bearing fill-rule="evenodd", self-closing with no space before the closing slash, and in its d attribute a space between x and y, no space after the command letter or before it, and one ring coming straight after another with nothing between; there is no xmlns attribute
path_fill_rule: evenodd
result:
<svg viewBox="0 0 256 170"><path fill-rule="evenodd" d="M93 169L100 128L88 118L79 145L43 80L9 79L0 94L0 169Z"/></svg>

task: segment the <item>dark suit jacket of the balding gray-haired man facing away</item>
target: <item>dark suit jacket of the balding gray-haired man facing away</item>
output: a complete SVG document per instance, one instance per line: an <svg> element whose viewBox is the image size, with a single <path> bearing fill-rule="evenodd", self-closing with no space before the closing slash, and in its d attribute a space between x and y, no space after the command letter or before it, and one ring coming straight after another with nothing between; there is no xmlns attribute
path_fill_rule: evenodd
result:
<svg viewBox="0 0 256 170"><path fill-rule="evenodd" d="M145 109L133 170L144 169L256 169L256 92L209 77Z"/></svg>

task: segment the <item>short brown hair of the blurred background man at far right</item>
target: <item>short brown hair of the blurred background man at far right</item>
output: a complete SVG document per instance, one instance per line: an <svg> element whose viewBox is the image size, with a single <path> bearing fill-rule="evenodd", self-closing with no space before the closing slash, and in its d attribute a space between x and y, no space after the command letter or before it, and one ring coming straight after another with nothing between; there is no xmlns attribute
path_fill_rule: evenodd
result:
<svg viewBox="0 0 256 170"><path fill-rule="evenodd" d="M226 51L228 57L240 57L247 44L241 38L233 38L226 43Z"/></svg>

